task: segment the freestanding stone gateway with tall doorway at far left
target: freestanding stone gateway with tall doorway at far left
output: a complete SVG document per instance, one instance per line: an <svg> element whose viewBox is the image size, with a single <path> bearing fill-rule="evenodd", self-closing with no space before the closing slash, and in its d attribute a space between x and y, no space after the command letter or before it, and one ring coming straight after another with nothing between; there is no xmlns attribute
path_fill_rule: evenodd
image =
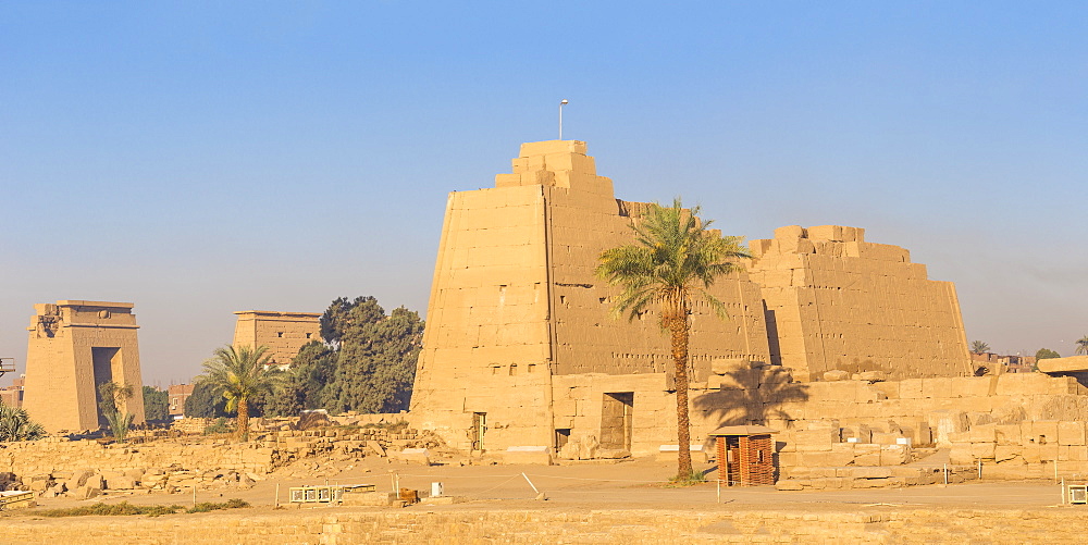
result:
<svg viewBox="0 0 1088 545"><path fill-rule="evenodd" d="M119 407L144 422L136 317L131 302L62 300L35 305L23 408L49 432L98 430L98 385L133 386Z"/></svg>

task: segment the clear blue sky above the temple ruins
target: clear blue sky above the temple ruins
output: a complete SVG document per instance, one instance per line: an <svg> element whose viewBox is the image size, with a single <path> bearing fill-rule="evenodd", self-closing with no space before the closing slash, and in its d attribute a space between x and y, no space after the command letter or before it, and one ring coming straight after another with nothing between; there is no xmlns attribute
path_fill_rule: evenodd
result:
<svg viewBox="0 0 1088 545"><path fill-rule="evenodd" d="M423 312L446 194L566 98L618 197L866 227L955 282L969 339L1071 355L1086 5L0 1L0 354L57 299L135 302L162 385L235 310Z"/></svg>

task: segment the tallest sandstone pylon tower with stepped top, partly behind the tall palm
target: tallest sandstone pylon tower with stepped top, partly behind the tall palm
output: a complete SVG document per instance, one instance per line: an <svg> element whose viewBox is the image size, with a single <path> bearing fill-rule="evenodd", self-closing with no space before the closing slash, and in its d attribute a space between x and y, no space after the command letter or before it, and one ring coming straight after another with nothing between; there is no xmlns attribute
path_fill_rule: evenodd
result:
<svg viewBox="0 0 1088 545"><path fill-rule="evenodd" d="M420 425L465 447L484 413L487 449L554 445L555 429L596 433L601 396L629 392L635 439L655 430L659 444L660 413L675 419L668 338L656 312L613 319L616 290L593 274L603 250L633 240L643 207L618 201L574 140L524 144L495 188L450 194L412 394ZM714 293L732 319L693 309L693 380L714 358L769 359L758 286L738 273Z"/></svg>

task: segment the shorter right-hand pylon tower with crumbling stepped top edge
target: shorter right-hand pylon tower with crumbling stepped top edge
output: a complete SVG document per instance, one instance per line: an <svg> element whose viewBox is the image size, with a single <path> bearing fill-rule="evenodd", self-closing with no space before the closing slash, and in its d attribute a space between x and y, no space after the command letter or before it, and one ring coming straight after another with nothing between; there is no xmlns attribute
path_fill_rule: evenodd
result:
<svg viewBox="0 0 1088 545"><path fill-rule="evenodd" d="M818 381L833 369L893 379L972 372L955 286L929 280L907 250L839 225L780 227L750 246L771 362L794 377Z"/></svg>

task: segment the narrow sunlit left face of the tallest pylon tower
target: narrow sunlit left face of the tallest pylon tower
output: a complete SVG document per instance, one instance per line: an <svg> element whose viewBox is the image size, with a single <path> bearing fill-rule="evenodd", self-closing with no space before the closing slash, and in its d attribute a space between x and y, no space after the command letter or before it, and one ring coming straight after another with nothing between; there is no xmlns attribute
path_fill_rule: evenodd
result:
<svg viewBox="0 0 1088 545"><path fill-rule="evenodd" d="M543 186L449 195L411 412L459 448L549 444Z"/></svg>

